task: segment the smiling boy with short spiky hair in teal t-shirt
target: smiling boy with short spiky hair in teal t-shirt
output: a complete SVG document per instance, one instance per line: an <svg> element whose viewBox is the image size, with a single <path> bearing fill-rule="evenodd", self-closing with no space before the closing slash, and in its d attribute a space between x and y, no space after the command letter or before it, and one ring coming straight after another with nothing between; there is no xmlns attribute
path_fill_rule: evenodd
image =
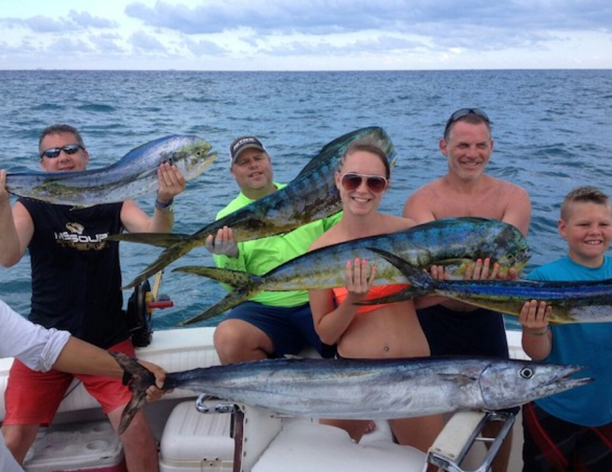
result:
<svg viewBox="0 0 612 472"><path fill-rule="evenodd" d="M536 268L529 279L589 281L612 278L606 256L612 238L610 201L583 186L561 205L558 229L569 254ZM532 300L523 307L523 349L532 359L588 366L595 382L523 407L523 472L612 471L612 323L549 326L554 306Z"/></svg>

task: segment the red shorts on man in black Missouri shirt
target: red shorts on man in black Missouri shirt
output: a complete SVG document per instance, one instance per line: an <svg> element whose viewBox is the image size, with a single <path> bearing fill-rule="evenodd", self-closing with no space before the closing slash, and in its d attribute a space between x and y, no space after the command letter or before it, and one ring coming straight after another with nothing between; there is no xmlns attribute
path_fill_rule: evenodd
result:
<svg viewBox="0 0 612 472"><path fill-rule="evenodd" d="M135 356L130 339L108 350ZM4 393L6 403L4 424L39 424L40 426L51 424L74 377L83 382L83 386L91 396L102 405L105 414L122 407L132 398L130 389L122 385L121 378L72 375L53 369L48 372L36 372L15 359L10 368L9 380Z"/></svg>

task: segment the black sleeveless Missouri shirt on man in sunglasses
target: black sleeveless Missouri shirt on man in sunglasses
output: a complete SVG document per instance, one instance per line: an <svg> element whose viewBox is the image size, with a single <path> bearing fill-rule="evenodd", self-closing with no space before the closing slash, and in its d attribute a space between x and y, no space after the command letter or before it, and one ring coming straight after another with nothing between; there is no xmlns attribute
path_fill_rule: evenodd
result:
<svg viewBox="0 0 612 472"><path fill-rule="evenodd" d="M29 319L102 348L129 337L122 311L119 243L122 204L72 209L19 199L34 221Z"/></svg>

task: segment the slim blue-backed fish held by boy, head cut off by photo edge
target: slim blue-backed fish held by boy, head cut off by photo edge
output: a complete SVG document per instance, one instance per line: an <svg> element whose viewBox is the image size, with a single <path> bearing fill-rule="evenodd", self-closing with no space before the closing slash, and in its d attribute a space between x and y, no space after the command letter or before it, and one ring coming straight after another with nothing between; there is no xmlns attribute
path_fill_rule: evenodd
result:
<svg viewBox="0 0 612 472"><path fill-rule="evenodd" d="M437 281L403 257L379 248L371 249L401 270L411 286L389 297L360 304L391 303L435 293L481 308L518 316L526 301L541 300L553 306L550 317L550 323L553 324L612 322L612 279L585 282Z"/></svg>

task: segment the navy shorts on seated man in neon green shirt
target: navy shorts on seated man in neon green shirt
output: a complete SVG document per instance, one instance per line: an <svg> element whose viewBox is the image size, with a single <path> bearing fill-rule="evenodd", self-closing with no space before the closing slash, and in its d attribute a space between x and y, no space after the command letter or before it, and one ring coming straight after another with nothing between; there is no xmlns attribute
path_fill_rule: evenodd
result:
<svg viewBox="0 0 612 472"><path fill-rule="evenodd" d="M335 355L335 346L323 344L316 334L310 303L286 308L245 301L232 309L226 319L243 320L270 336L274 357L296 355L307 347L314 347L326 358Z"/></svg>

